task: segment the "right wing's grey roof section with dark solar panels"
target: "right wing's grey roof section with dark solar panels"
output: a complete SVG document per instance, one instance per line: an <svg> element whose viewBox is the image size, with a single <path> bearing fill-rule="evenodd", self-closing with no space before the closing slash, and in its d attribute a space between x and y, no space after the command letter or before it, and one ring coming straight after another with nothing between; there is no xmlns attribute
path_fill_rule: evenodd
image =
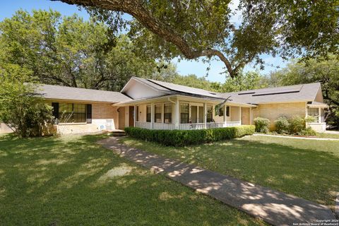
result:
<svg viewBox="0 0 339 226"><path fill-rule="evenodd" d="M246 90L233 93L220 93L222 97L230 97L230 100L249 104L263 104L273 102L308 102L314 101L316 93L321 89L320 83L308 83L300 85L287 85L276 88L263 88Z"/></svg>

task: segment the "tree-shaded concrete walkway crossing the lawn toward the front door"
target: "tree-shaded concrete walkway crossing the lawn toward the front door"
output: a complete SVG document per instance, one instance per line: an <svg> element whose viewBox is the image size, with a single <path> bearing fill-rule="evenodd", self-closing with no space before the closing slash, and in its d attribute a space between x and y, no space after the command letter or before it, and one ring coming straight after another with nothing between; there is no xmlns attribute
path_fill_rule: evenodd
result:
<svg viewBox="0 0 339 226"><path fill-rule="evenodd" d="M212 196L222 203L243 210L272 225L292 225L293 223L335 219L331 210L326 206L194 165L130 148L119 143L118 139L110 137L99 143L128 160L150 168L155 173L165 174L174 181Z"/></svg>

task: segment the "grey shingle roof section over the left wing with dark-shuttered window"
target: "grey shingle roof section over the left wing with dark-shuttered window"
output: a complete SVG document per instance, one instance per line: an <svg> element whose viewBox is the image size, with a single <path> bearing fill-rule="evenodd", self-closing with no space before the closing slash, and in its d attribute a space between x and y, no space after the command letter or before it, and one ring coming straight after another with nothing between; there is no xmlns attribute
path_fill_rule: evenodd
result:
<svg viewBox="0 0 339 226"><path fill-rule="evenodd" d="M46 99L56 100L78 100L109 103L131 100L130 97L119 92L73 88L60 85L38 85L37 93L42 94L42 97Z"/></svg>

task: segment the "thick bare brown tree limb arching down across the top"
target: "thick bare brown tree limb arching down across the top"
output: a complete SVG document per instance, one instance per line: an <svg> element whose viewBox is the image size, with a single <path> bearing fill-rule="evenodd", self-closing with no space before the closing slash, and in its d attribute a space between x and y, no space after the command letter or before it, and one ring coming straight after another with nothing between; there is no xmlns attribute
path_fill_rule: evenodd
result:
<svg viewBox="0 0 339 226"><path fill-rule="evenodd" d="M62 1L67 4L76 4L80 6L94 6L97 8L103 8L111 11L121 11L128 13L148 30L153 32L155 35L162 37L167 42L174 44L180 52L187 59L196 59L198 57L218 57L226 66L230 76L234 78L239 70L239 65L232 69L230 61L225 55L217 49L205 49L205 50L194 50L189 47L189 44L184 40L183 37L178 35L174 30L169 30L163 25L157 18L154 18L151 13L143 7L141 1L138 0L51 0L51 1Z"/></svg>

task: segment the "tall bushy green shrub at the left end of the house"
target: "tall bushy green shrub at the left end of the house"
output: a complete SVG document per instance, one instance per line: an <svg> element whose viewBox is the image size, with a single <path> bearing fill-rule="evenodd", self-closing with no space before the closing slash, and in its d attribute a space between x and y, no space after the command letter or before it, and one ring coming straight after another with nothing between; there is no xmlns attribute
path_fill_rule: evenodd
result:
<svg viewBox="0 0 339 226"><path fill-rule="evenodd" d="M0 121L18 136L42 136L52 132L52 107L47 105L29 73L18 65L0 65Z"/></svg>

